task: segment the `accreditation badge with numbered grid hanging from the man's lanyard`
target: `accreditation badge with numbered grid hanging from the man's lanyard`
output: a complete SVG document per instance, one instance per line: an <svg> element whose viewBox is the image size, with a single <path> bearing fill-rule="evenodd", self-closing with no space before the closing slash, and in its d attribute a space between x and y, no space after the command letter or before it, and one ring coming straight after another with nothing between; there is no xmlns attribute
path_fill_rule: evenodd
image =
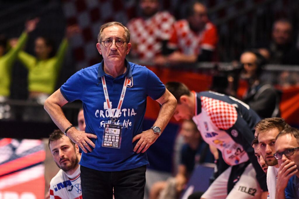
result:
<svg viewBox="0 0 299 199"><path fill-rule="evenodd" d="M103 147L120 148L121 142L121 125L105 124L103 133Z"/></svg>

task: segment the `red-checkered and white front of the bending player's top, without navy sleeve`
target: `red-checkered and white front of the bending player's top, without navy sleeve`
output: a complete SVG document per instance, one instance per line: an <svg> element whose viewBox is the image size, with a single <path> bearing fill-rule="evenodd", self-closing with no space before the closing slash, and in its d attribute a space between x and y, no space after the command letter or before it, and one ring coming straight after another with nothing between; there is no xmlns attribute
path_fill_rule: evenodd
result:
<svg viewBox="0 0 299 199"><path fill-rule="evenodd" d="M197 94L195 93L195 99ZM233 104L218 99L201 96L201 112L192 119L200 131L204 141L215 146L222 152L223 160L228 165L237 165L249 160L246 151L241 144L235 142L225 132L233 127L237 121L238 113ZM237 130L232 130L234 137L238 136Z"/></svg>

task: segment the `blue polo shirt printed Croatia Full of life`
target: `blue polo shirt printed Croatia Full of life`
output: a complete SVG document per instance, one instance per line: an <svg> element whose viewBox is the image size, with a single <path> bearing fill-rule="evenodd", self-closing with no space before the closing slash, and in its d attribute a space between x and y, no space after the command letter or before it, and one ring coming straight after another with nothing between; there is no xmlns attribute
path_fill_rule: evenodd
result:
<svg viewBox="0 0 299 199"><path fill-rule="evenodd" d="M82 101L85 131L97 135L97 139L90 138L95 143L93 151L82 153L82 166L99 171L122 171L148 164L146 153L133 152L137 141L132 143L132 139L142 132L147 96L157 100L164 94L165 86L146 67L126 60L125 64L126 72L113 78L103 71L102 61L76 72L60 87L68 102L77 99ZM121 114L116 121L123 126L120 149L102 147L104 124L110 120L101 81L103 75L113 113L118 106L125 77L132 77L132 82L127 85Z"/></svg>

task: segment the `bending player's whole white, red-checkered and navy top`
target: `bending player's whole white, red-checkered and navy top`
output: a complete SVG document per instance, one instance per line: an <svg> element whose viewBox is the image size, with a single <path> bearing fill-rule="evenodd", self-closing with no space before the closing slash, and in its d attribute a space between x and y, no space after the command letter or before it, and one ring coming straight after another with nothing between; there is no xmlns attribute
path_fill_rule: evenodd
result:
<svg viewBox="0 0 299 199"><path fill-rule="evenodd" d="M211 91L194 94L193 121L205 142L216 146L229 165L248 161L248 155L253 151L254 124L260 120L258 115L247 104L231 96Z"/></svg>

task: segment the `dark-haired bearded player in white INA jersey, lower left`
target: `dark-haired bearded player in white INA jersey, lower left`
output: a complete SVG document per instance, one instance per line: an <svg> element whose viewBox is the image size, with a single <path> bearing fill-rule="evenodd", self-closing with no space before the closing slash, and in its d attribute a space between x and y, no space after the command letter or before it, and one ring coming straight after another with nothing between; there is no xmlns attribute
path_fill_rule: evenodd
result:
<svg viewBox="0 0 299 199"><path fill-rule="evenodd" d="M49 138L49 148L55 163L60 168L50 182L50 198L82 199L79 146L55 130Z"/></svg>

